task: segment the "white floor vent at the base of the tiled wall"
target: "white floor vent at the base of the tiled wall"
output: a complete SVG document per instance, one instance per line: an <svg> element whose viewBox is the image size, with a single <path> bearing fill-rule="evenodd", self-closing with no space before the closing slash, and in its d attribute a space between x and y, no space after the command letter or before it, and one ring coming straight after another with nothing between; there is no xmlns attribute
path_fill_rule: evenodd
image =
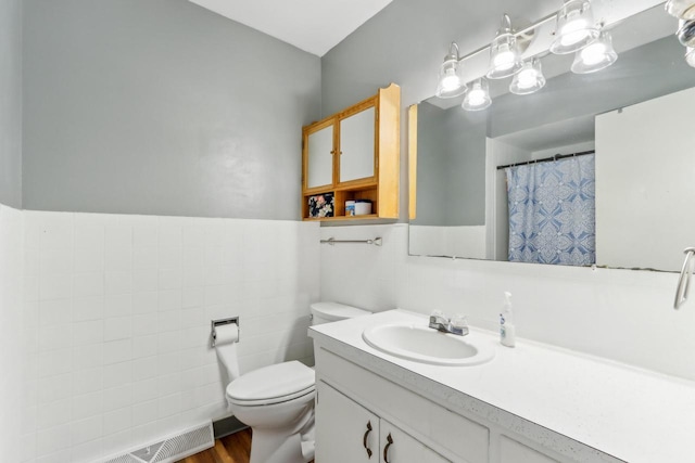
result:
<svg viewBox="0 0 695 463"><path fill-rule="evenodd" d="M173 463L215 446L213 424L207 422L104 463Z"/></svg>

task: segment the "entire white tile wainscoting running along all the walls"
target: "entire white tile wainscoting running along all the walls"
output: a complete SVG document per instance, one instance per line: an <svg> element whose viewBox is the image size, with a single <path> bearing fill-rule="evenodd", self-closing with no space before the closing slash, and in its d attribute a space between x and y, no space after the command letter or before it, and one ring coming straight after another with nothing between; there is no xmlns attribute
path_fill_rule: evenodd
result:
<svg viewBox="0 0 695 463"><path fill-rule="evenodd" d="M318 245L377 235L382 247ZM695 380L695 305L670 308L675 280L408 257L405 224L319 231L0 206L0 368L21 377L0 376L0 446L9 461L93 461L220 417L210 320L241 317L242 372L311 361L308 304L319 297L462 311L494 330L508 290L521 337Z"/></svg>

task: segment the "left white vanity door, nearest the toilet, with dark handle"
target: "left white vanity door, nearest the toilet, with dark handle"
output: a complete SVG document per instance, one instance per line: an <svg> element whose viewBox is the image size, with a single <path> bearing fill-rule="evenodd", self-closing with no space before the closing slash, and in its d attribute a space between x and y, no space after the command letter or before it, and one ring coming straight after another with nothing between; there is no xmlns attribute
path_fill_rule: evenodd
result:
<svg viewBox="0 0 695 463"><path fill-rule="evenodd" d="M324 382L316 390L316 463L380 461L379 416Z"/></svg>

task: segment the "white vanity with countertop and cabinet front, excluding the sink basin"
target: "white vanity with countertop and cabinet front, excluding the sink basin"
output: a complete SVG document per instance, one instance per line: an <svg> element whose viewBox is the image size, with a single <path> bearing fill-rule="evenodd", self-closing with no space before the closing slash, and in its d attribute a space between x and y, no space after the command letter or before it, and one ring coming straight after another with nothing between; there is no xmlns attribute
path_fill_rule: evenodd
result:
<svg viewBox="0 0 695 463"><path fill-rule="evenodd" d="M480 348L491 346L495 356L470 366L402 359L371 347L364 336L374 326L427 323L427 316L394 309L308 330L317 382L330 386L342 402L368 411L372 438L381 442L379 450L389 434L394 446L401 433L406 436L403 440L416 443L404 451L406 455L396 454L391 446L393 461L418 454L422 448L456 463L695 461L688 440L695 382L673 381L523 339L508 349L500 346L496 333L475 327L468 342ZM334 427L348 413L325 400L326 387L320 386L316 404L319 450L323 441L348 435ZM665 407L666 398L678 407ZM352 432L358 443L364 420ZM416 461L433 458L427 451L424 455ZM340 460L326 463L332 461Z"/></svg>

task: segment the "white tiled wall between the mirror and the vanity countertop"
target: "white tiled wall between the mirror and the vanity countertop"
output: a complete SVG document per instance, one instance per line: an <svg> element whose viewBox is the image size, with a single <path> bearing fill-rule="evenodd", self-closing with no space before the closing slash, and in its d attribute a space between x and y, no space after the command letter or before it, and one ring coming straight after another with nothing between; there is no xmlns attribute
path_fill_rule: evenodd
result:
<svg viewBox="0 0 695 463"><path fill-rule="evenodd" d="M407 224L323 228L321 299L375 311L468 314L495 330L510 291L520 337L695 380L695 303L673 310L678 274L409 257Z"/></svg>

